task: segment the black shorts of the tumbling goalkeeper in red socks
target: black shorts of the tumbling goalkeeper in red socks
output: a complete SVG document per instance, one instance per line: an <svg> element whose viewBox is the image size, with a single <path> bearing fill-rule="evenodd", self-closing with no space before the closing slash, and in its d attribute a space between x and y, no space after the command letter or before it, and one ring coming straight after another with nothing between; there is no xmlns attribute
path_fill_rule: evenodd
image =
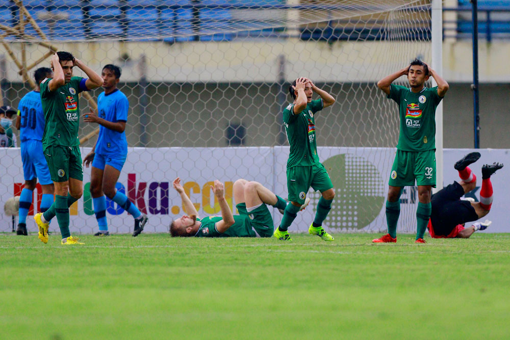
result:
<svg viewBox="0 0 510 340"><path fill-rule="evenodd" d="M457 182L432 195L430 222L436 235L448 236L457 224L478 219L471 202L461 200L462 196L464 196L464 188Z"/></svg>

